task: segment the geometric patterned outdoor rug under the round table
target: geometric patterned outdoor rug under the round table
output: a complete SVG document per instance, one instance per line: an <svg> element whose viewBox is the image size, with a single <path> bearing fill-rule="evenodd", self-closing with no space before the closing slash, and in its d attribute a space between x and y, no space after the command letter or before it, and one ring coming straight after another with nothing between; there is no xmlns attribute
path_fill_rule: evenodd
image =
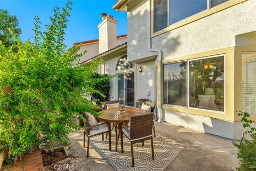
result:
<svg viewBox="0 0 256 171"><path fill-rule="evenodd" d="M113 131L112 131L113 133ZM145 145L136 143L133 145L134 167L132 167L130 141L124 135L124 153L121 153L121 142L118 141L118 152L115 152L115 134L111 137L112 151L108 149L108 139L102 141L102 136L95 136L90 139L90 145L116 170L131 171L162 171L185 149L184 146L175 143L173 140L159 134L154 137L155 160L152 160L151 141L145 141Z"/></svg>

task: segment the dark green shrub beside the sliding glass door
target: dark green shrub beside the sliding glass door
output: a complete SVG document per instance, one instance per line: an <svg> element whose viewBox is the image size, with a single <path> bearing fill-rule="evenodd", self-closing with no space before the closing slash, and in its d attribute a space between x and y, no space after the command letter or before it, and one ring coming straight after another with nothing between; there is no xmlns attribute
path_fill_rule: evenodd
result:
<svg viewBox="0 0 256 171"><path fill-rule="evenodd" d="M98 104L100 104L101 102L108 101L109 97L110 97L110 94L109 94L109 91L110 91L109 79L112 78L112 77L109 76L108 74L101 75L98 72L94 72L92 78L94 80L96 80L96 79L99 80L98 82L94 82L92 87L103 94L103 96L102 96L99 93L92 93L92 97L94 99L98 100L98 102L97 102Z"/></svg>

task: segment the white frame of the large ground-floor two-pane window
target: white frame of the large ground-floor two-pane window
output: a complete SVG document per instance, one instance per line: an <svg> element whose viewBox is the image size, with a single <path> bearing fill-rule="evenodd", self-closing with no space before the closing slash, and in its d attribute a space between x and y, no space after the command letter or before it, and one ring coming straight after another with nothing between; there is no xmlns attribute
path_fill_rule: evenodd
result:
<svg viewBox="0 0 256 171"><path fill-rule="evenodd" d="M201 109L201 108L192 108L189 107L189 61L196 61L196 60L201 60L201 59L208 59L208 58L214 58L214 57L220 57L223 56L224 58L224 110L223 111L218 111L218 110L210 110L210 109ZM220 113L220 114L225 114L226 113L226 106L227 106L227 96L226 96L226 82L227 82L227 78L226 78L226 54L218 54L218 55L212 55L212 56L205 56L202 58L195 58L195 59L190 59L190 60L182 60L182 61L175 61L175 62L170 62L170 63L165 63L163 64L163 66L167 65L167 64L172 64L172 63L179 63L179 62L187 62L187 79L186 79L186 85L187 85L187 92L186 92L186 96L187 96L187 106L186 107L182 107L181 105L174 105L174 104L166 104L163 103L162 105L166 105L166 106L170 106L170 107L177 107L177 108L183 108L183 109L192 109L192 110L199 110L199 111L207 111L207 112L214 112L214 113ZM162 78L162 82L164 83L164 80ZM162 99L164 99L164 91L162 93Z"/></svg>

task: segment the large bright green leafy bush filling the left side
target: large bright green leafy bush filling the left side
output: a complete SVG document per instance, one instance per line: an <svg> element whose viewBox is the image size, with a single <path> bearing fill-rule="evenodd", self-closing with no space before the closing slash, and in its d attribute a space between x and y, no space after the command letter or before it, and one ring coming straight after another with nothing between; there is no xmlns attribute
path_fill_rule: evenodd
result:
<svg viewBox="0 0 256 171"><path fill-rule="evenodd" d="M70 4L54 10L44 32L35 17L34 43L15 38L15 52L0 43L0 151L9 149L9 160L42 143L67 144L76 117L84 111L98 115L83 94L101 94L91 87L100 82L91 79L100 61L72 67L83 54L63 43Z"/></svg>

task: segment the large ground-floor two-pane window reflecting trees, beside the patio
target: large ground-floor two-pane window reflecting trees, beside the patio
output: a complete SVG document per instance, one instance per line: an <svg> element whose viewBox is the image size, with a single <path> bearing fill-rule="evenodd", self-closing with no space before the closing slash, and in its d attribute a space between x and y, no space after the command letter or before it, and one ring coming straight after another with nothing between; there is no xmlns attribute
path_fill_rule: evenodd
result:
<svg viewBox="0 0 256 171"><path fill-rule="evenodd" d="M164 104L214 111L225 109L225 56L163 66Z"/></svg>

